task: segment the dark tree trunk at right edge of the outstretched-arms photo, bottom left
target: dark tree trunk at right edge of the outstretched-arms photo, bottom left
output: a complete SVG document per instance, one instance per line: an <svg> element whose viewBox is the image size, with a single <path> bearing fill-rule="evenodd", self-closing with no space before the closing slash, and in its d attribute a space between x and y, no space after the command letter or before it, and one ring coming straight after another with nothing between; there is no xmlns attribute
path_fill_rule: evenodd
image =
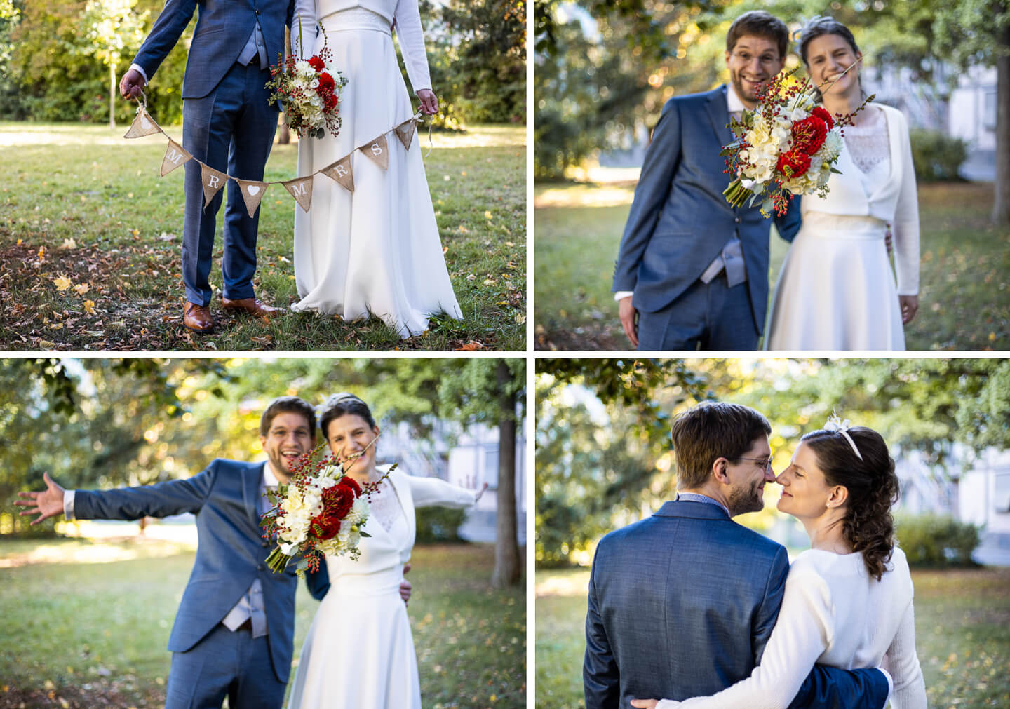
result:
<svg viewBox="0 0 1010 709"><path fill-rule="evenodd" d="M515 504L515 395L506 394L511 384L508 365L498 363L498 527L495 541L495 572L491 585L496 589L517 584L522 578Z"/></svg>

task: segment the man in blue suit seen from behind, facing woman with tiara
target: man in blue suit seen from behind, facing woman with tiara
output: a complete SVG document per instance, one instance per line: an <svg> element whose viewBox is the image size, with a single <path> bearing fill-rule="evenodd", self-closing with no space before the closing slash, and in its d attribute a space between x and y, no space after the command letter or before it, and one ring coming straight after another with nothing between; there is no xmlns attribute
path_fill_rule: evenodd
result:
<svg viewBox="0 0 1010 709"><path fill-rule="evenodd" d="M607 534L593 560L586 709L709 696L749 677L785 594L785 547L732 521L764 507L772 427L753 409L706 402L671 435L678 488L647 519ZM882 709L879 670L816 666L791 709Z"/></svg>

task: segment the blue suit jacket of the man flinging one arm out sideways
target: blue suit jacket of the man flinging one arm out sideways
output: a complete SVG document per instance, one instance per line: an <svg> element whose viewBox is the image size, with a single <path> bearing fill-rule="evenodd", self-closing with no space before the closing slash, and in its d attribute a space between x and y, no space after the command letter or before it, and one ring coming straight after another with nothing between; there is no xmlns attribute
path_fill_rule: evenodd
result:
<svg viewBox="0 0 1010 709"><path fill-rule="evenodd" d="M169 649L185 652L210 632L248 591L254 579L263 585L270 652L277 679L287 682L295 632L293 568L284 574L267 569L271 544L262 538L258 499L263 463L217 459L187 480L108 491L79 490L74 514L80 519L139 519L192 512L199 545ZM307 573L312 596L321 600L329 589L325 565Z"/></svg>

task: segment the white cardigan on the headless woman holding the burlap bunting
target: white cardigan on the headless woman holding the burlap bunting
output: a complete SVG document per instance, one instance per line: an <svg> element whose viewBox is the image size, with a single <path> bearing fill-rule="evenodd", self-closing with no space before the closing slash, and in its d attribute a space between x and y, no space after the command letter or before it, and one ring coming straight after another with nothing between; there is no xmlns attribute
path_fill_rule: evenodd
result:
<svg viewBox="0 0 1010 709"><path fill-rule="evenodd" d="M308 6L302 10L302 35L306 44L304 53L306 59L311 48L315 46L318 33L317 21L335 12L360 7L382 16L390 25L396 20L396 37L400 40L400 50L403 53L407 76L410 78L414 93L431 88L428 56L424 50L424 29L421 27L421 12L417 0L315 0L315 2L302 0L302 2ZM298 26L297 16L291 23L294 27ZM303 55L298 46L297 34L297 31L291 32L291 52L296 57L301 57ZM348 78L354 80L354 77Z"/></svg>

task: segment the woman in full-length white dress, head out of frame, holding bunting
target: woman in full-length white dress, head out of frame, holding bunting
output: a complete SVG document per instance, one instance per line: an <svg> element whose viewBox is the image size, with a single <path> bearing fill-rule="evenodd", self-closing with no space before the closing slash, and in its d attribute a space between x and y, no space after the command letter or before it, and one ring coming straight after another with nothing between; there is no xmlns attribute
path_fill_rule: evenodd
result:
<svg viewBox="0 0 1010 709"><path fill-rule="evenodd" d="M330 166L414 115L393 45L394 21L422 110L438 110L417 0L316 0L315 12L301 17L304 52L292 33L294 53L308 58L322 48L318 21L333 67L348 83L340 99L339 133L300 141L299 175ZM311 209L296 207L295 282L301 300L292 309L348 321L375 314L409 337L427 328L430 315L463 314L442 257L420 139L415 134L409 149L393 132L386 140L386 170L354 151L354 192L319 174L313 178Z"/></svg>

